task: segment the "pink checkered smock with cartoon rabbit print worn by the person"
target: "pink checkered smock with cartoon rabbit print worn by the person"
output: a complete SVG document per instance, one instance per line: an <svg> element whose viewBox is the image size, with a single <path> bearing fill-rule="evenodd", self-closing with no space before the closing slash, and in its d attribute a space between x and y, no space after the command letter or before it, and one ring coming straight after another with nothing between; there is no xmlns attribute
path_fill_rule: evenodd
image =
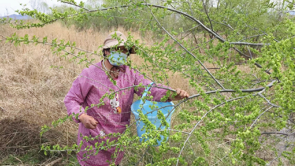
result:
<svg viewBox="0 0 295 166"><path fill-rule="evenodd" d="M91 65L89 68L83 69L80 76L73 82L71 89L65 96L65 106L68 111L68 115L73 113L82 114L85 113L86 107L91 107L91 104L99 104L100 98L105 93L110 93L110 89L118 91L119 88L131 87L133 85L148 85L151 81L144 78L143 75L136 72L134 69L130 69L128 66L123 65L125 72L120 71L118 78L115 80L117 85L114 85L101 69L101 62L96 63L99 67ZM167 87L161 84L158 86ZM166 89L162 88L151 88L151 94L154 101L160 101L161 97L166 94ZM138 96L142 96L144 88L138 88L135 91L133 88L121 90L116 93L113 99L107 97L103 99L104 105L99 107L94 106L86 111L87 115L94 117L99 122L95 129L85 128L84 124L80 123L78 119L73 117L73 121L79 123L77 144L83 142L81 151L77 154L77 159L82 166L107 166L109 162L119 164L124 155L124 151L116 152L116 158L112 155L115 153L116 147L113 146L107 150L100 150L97 155L86 153L85 148L95 147L94 144L101 141L110 139L109 142L117 140L114 137L107 137L105 135L109 133L123 133L126 129L126 124L130 124L130 113L131 104L133 102L133 94L136 93ZM169 100L168 100L169 101ZM83 139L84 136L99 136L99 139L86 141ZM106 146L106 144L104 144Z"/></svg>

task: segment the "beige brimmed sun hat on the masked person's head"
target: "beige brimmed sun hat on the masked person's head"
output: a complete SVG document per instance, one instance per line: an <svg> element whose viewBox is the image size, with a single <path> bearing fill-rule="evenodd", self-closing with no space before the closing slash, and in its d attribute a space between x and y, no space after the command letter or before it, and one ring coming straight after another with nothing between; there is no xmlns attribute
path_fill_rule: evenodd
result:
<svg viewBox="0 0 295 166"><path fill-rule="evenodd" d="M116 38L113 38L112 37L112 35L115 34L115 33L116 33L116 35L121 40L123 40L120 44L119 44L119 41ZM122 32L120 32L120 31L114 31L114 32L108 34L108 36L104 39L104 46L103 46L103 48L104 49L107 49L107 48L112 48L114 46L123 46L126 41L127 41L127 38L126 38L126 36ZM135 46L133 46L131 48L130 53L135 53Z"/></svg>

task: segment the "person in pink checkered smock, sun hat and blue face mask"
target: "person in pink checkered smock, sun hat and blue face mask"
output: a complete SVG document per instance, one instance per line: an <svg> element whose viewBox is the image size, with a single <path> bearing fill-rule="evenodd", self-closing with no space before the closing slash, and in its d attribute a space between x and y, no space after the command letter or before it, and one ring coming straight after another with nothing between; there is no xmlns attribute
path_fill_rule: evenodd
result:
<svg viewBox="0 0 295 166"><path fill-rule="evenodd" d="M73 116L73 121L79 123L77 145L83 144L81 151L77 153L77 160L82 166L107 166L110 165L110 161L115 164L120 163L124 151L116 152L114 158L115 146L106 150L100 149L98 154L90 155L85 152L85 148L90 146L95 148L97 142L99 145L102 141L106 142L107 139L109 142L117 140L118 137L108 137L107 135L123 133L126 130L126 125L130 124L130 106L133 94L136 93L141 97L145 90L144 87L135 89L134 85L151 83L142 74L124 65L126 58L136 51L135 47L124 46L126 41L126 36L120 31L110 33L104 40L104 60L83 69L65 96L64 103L68 115L76 114ZM110 78L116 81L116 85ZM167 87L161 84L157 84L157 86ZM175 90L177 95L174 98L171 98L170 95L167 101L181 100L189 96L184 90L179 88ZM117 92L113 98L103 97L106 93L112 92ZM167 89L152 87L150 92L150 95L153 96L152 100L159 102L166 95ZM99 106L92 104L99 104ZM84 136L98 137L87 141L83 139Z"/></svg>

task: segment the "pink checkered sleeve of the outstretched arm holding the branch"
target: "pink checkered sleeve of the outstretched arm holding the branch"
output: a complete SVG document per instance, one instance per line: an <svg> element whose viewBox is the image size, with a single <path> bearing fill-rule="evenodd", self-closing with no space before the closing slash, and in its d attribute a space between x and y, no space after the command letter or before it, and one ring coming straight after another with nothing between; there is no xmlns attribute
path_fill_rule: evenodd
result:
<svg viewBox="0 0 295 166"><path fill-rule="evenodd" d="M134 72L132 71L132 73ZM134 73L134 78L135 78L134 85L139 85L140 83L142 83L142 85L148 85L149 83L151 83L151 81L149 81L148 79L145 79L144 76L140 74L139 72ZM157 84L157 86L170 88L162 84ZM134 93L136 93L139 97L142 97L144 90L145 88L138 88L138 90L134 91ZM151 87L149 91L151 92L150 95L153 96L152 101L161 102L161 98L166 95L167 89ZM170 101L171 100L167 99L167 101L165 102L170 102Z"/></svg>

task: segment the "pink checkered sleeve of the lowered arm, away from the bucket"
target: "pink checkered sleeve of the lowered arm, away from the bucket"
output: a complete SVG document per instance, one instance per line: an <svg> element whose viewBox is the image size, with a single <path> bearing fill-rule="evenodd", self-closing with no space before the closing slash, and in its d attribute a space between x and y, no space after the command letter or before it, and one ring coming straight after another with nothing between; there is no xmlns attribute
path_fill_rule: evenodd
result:
<svg viewBox="0 0 295 166"><path fill-rule="evenodd" d="M79 116L85 113L85 108L82 105L89 92L89 89L91 88L91 84L89 82L90 80L87 70L83 69L82 73L73 82L71 89L65 96L64 103L69 116L73 113L79 113ZM72 119L74 122L80 123L80 120L76 119L75 116L73 116Z"/></svg>

